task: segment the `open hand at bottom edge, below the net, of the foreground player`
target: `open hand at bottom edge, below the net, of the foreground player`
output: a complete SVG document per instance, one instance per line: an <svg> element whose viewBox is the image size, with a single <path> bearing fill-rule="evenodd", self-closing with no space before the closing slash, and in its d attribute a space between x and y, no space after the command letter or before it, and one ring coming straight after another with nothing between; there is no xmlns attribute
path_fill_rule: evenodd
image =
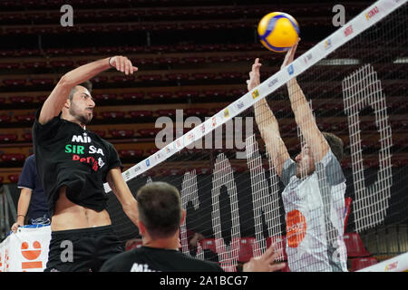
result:
<svg viewBox="0 0 408 290"><path fill-rule="evenodd" d="M267 248L262 256L252 257L244 264L244 272L275 272L283 269L285 263L275 263L281 251L277 251L275 245Z"/></svg>

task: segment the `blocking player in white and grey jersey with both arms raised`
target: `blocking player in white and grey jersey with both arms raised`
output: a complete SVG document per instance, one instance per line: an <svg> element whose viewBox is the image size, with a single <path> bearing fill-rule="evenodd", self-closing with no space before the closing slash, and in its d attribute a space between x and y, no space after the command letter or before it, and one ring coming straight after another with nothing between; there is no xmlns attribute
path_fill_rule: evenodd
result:
<svg viewBox="0 0 408 290"><path fill-rule="evenodd" d="M293 62L294 45L282 68ZM257 59L249 73L248 91L260 83ZM302 89L293 78L287 90L302 150L292 160L282 140L277 119L266 99L254 105L257 127L277 175L285 185L282 192L287 222L287 262L292 272L347 271L344 235L345 176L339 161L343 141L319 131Z"/></svg>

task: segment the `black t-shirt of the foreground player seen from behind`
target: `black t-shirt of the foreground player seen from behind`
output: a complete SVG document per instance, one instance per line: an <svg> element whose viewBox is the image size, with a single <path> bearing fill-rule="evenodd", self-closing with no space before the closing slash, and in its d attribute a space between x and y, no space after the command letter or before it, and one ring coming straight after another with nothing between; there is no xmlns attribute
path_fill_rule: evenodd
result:
<svg viewBox="0 0 408 290"><path fill-rule="evenodd" d="M106 261L102 272L223 272L215 262L187 256L179 250L137 247Z"/></svg>

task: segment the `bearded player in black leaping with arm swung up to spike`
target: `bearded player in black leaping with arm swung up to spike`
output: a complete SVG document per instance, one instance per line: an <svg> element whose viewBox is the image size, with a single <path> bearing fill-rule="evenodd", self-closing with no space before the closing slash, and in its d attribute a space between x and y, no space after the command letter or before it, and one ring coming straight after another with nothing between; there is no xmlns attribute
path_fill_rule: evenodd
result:
<svg viewBox="0 0 408 290"><path fill-rule="evenodd" d="M63 75L34 121L36 166L52 216L45 271L98 271L121 253L104 182L138 224L137 202L121 176L117 151L86 129L95 106L88 80L111 67L126 74L137 71L123 56L84 64Z"/></svg>

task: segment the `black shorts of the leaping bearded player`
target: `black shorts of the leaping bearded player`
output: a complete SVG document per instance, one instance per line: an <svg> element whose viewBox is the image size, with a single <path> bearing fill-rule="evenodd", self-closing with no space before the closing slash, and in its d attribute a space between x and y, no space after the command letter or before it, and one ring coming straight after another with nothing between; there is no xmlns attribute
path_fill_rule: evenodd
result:
<svg viewBox="0 0 408 290"><path fill-rule="evenodd" d="M123 251L111 225L53 231L44 272L97 272Z"/></svg>

